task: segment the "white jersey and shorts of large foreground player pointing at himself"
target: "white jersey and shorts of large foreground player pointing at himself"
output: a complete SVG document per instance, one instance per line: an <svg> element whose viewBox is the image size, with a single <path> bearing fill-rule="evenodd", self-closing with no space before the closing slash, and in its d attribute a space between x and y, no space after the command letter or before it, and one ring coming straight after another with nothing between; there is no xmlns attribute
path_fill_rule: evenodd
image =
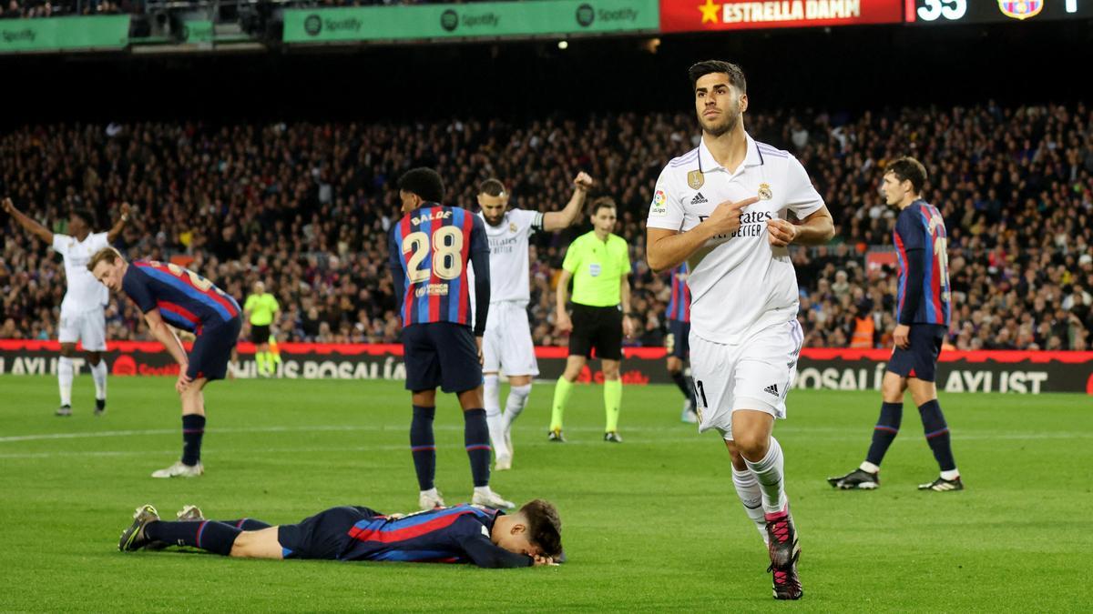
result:
<svg viewBox="0 0 1093 614"><path fill-rule="evenodd" d="M773 247L767 220L798 220L823 200L789 153L745 135L748 155L730 173L698 147L665 166L646 225L681 233L722 202L759 197L741 210L740 228L710 239L691 259L691 370L700 432L732 438L732 412L786 416L803 333L797 322L797 275L785 247Z"/></svg>

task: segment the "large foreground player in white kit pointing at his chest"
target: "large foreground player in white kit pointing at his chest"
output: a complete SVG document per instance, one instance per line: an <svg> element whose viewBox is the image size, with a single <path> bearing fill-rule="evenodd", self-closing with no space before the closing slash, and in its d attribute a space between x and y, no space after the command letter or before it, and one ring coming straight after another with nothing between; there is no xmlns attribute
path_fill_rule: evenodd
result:
<svg viewBox="0 0 1093 614"><path fill-rule="evenodd" d="M768 542L774 597L799 599L800 548L781 448L772 437L774 420L786 415L803 340L787 247L826 243L834 227L801 164L744 131L740 67L709 60L687 72L702 142L657 180L647 258L658 272L684 260L691 267L700 430L717 429L725 439L737 494Z"/></svg>

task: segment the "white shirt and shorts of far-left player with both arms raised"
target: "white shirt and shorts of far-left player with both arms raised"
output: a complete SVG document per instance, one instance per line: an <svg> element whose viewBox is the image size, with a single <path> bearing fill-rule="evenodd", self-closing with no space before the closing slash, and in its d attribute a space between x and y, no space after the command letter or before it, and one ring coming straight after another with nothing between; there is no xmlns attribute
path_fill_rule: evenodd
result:
<svg viewBox="0 0 1093 614"><path fill-rule="evenodd" d="M68 235L54 235L54 251L64 259L64 278L68 288L61 302L58 341L82 342L89 352L106 351L106 318L103 308L109 303L109 293L91 271L87 262L96 251L108 247L106 233L87 235L83 241Z"/></svg>

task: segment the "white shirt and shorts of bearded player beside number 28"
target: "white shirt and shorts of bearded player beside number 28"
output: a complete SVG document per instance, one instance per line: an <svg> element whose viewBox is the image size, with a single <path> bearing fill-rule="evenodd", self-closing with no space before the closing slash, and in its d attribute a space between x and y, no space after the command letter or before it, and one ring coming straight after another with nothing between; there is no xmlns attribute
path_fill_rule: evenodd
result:
<svg viewBox="0 0 1093 614"><path fill-rule="evenodd" d="M482 221L485 217L479 213ZM501 224L485 224L490 243L490 312L482 338L482 370L505 375L539 375L528 323L528 237L543 226L538 211L510 209ZM473 288L473 282L471 283ZM474 304L473 297L471 305Z"/></svg>

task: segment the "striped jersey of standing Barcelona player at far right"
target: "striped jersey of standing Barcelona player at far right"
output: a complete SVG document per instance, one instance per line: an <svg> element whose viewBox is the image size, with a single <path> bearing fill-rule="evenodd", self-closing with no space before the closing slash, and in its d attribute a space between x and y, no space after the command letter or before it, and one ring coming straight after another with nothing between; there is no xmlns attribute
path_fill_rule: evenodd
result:
<svg viewBox="0 0 1093 614"><path fill-rule="evenodd" d="M924 200L916 200L896 217L894 239L900 261L896 321L948 327L949 238L941 212ZM920 284L916 283L919 276Z"/></svg>

